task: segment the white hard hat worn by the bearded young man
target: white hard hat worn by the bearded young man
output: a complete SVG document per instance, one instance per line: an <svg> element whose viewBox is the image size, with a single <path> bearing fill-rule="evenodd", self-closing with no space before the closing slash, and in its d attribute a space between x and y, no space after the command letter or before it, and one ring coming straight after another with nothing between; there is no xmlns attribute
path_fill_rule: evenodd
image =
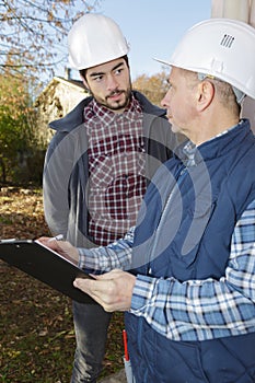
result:
<svg viewBox="0 0 255 383"><path fill-rule="evenodd" d="M69 62L88 69L127 55L129 47L119 26L102 14L88 13L68 34Z"/></svg>

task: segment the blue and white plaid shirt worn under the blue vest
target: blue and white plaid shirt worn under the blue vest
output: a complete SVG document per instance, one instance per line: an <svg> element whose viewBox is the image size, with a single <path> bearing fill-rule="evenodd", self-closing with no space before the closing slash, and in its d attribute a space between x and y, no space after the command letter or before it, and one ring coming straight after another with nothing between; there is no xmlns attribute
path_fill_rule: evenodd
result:
<svg viewBox="0 0 255 383"><path fill-rule="evenodd" d="M79 249L80 267L128 270L134 233L135 228L107 247ZM208 340L255 332L255 200L235 224L224 277L181 283L173 277L138 275L130 313L144 317L172 340Z"/></svg>

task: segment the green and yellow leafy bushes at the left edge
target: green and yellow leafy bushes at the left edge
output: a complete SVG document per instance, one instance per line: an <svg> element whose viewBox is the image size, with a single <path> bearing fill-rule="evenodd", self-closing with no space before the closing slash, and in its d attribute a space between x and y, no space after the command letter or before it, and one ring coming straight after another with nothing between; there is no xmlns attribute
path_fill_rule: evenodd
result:
<svg viewBox="0 0 255 383"><path fill-rule="evenodd" d="M0 72L0 183L39 182L43 156L27 82Z"/></svg>

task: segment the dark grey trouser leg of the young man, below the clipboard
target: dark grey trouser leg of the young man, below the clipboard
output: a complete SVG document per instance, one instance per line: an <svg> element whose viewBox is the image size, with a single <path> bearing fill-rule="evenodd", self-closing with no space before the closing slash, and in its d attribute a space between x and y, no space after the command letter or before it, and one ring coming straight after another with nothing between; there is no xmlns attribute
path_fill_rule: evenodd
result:
<svg viewBox="0 0 255 383"><path fill-rule="evenodd" d="M102 370L112 314L98 304L73 302L77 349L71 383L95 383Z"/></svg>

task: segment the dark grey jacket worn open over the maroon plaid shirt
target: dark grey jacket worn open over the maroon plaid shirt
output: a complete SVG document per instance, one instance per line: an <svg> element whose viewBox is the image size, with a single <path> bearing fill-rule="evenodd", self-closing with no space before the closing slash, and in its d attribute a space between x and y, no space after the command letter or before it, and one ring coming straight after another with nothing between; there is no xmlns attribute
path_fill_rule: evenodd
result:
<svg viewBox="0 0 255 383"><path fill-rule="evenodd" d="M165 118L165 111L134 91L143 112L146 176L150 181L159 165L172 156L178 143ZM63 234L76 246L94 247L88 235L88 138L83 124L84 107L92 97L81 101L63 118L49 124L56 130L45 158L45 218L54 235Z"/></svg>

